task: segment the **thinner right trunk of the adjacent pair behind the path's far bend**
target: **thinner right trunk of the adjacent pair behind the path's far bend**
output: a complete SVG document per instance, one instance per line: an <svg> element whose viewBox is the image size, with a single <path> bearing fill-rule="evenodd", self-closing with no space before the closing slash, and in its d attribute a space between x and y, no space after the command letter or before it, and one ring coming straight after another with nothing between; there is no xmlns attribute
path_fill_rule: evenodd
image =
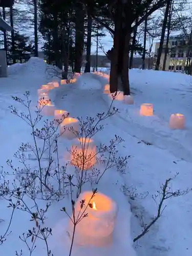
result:
<svg viewBox="0 0 192 256"><path fill-rule="evenodd" d="M88 36L87 36L86 68L84 69L84 72L91 71L91 31L92 31L92 17L88 11Z"/></svg>

